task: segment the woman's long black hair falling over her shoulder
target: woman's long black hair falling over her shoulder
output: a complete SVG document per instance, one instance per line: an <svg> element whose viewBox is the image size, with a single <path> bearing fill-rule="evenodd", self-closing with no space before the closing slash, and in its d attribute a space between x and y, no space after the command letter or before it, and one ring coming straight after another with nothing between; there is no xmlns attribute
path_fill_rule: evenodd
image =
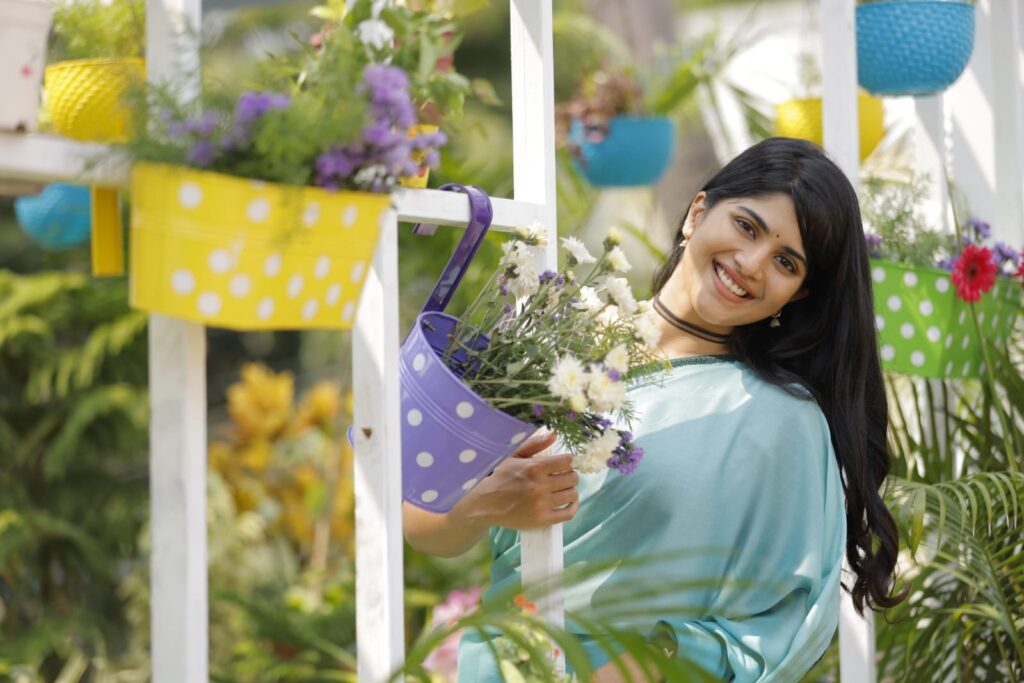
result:
<svg viewBox="0 0 1024 683"><path fill-rule="evenodd" d="M793 200L808 255L808 295L785 305L782 327L768 321L736 328L730 351L768 382L811 392L831 432L846 492L846 556L856 574L857 611L891 607L899 539L879 489L889 473L885 386L879 364L870 268L857 195L843 171L814 144L776 137L729 162L701 190L707 209L724 199L781 194ZM683 249L654 273L658 292Z"/></svg>

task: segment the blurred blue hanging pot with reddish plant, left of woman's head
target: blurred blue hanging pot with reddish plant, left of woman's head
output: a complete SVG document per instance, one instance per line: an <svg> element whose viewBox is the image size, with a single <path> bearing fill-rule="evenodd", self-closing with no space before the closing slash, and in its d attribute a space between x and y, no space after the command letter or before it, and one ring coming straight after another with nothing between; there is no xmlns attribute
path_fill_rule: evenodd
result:
<svg viewBox="0 0 1024 683"><path fill-rule="evenodd" d="M602 139L590 133L578 119L569 124L573 163L592 185L650 185L672 161L675 128L665 117L616 116Z"/></svg>

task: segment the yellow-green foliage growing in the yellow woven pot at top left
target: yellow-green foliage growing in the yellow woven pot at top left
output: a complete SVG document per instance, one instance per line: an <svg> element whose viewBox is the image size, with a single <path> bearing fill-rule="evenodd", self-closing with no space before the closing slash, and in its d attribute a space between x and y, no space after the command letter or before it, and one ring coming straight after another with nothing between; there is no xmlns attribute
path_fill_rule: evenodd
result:
<svg viewBox="0 0 1024 683"><path fill-rule="evenodd" d="M61 0L50 60L142 56L145 0Z"/></svg>

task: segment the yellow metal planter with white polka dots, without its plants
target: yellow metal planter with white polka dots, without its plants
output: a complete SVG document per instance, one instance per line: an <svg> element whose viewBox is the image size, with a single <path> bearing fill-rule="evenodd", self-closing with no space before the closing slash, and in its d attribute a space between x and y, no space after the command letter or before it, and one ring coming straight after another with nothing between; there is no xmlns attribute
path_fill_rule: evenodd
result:
<svg viewBox="0 0 1024 683"><path fill-rule="evenodd" d="M351 328L390 207L157 164L131 191L132 305L236 330Z"/></svg>

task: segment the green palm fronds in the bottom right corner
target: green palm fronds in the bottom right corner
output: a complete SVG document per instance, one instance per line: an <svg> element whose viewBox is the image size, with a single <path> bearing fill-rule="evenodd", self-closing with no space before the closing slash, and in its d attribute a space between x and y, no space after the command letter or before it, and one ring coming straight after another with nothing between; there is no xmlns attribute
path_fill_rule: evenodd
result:
<svg viewBox="0 0 1024 683"><path fill-rule="evenodd" d="M1024 475L980 472L891 495L909 553L909 599L887 613L891 680L1024 679Z"/></svg>

